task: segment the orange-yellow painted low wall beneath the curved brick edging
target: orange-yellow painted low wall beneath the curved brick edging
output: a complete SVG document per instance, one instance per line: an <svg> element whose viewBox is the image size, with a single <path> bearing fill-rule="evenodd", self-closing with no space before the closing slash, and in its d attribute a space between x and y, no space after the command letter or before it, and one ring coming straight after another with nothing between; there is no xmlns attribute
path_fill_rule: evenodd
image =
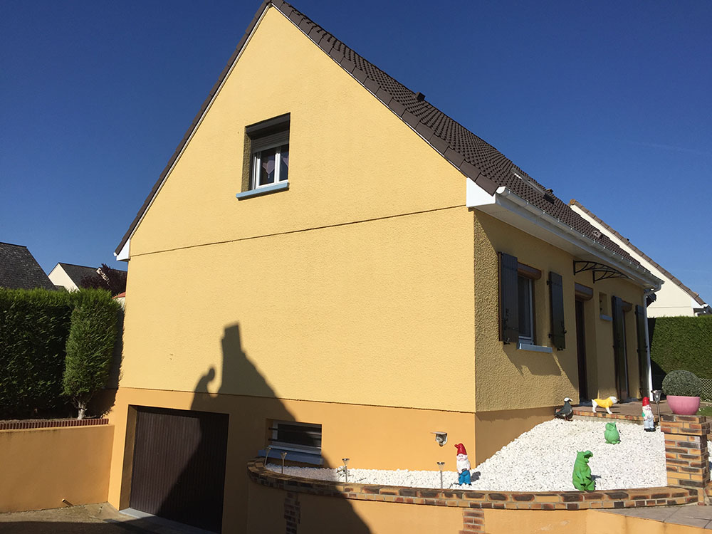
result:
<svg viewBox="0 0 712 534"><path fill-rule="evenodd" d="M352 501L288 493L251 484L248 533L283 533L290 521L300 534L459 534L471 508ZM288 513L283 513L288 512ZM291 515L293 513L293 515ZM596 510L483 510L488 534L703 534L703 528L626 517Z"/></svg>

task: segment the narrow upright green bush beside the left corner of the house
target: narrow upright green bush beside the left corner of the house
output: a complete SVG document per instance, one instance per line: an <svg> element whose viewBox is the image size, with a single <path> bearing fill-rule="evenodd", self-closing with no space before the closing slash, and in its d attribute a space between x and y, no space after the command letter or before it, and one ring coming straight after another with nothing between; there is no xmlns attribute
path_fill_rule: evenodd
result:
<svg viewBox="0 0 712 534"><path fill-rule="evenodd" d="M63 393L79 409L79 419L109 377L119 308L108 292L87 295L90 298L78 299L72 312L62 381Z"/></svg>

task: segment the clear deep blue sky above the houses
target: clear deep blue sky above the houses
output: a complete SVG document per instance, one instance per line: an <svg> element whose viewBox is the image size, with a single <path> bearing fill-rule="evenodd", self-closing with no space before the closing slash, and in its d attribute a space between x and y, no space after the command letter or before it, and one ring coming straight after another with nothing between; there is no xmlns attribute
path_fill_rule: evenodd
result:
<svg viewBox="0 0 712 534"><path fill-rule="evenodd" d="M257 1L0 3L0 241L112 251ZM712 2L295 7L712 300Z"/></svg>

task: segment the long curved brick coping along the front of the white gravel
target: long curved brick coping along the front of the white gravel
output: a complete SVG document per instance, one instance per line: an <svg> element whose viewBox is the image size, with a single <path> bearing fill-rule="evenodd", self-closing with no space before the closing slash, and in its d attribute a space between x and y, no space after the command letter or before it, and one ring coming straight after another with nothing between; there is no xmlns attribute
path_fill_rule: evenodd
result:
<svg viewBox="0 0 712 534"><path fill-rule="evenodd" d="M637 508L696 503L692 488L663 486L614 491L475 491L405 488L375 484L345 484L275 473L264 468L263 459L253 459L247 468L251 481L296 493L339 497L356 501L384 501L454 506L458 508L501 508L507 510L586 510L604 508Z"/></svg>

